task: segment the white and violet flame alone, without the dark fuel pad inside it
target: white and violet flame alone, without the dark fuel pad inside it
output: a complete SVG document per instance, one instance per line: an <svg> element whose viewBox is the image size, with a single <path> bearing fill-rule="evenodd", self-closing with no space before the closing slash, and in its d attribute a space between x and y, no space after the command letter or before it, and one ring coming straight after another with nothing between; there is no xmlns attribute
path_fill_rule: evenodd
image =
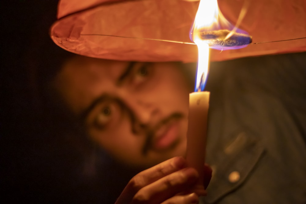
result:
<svg viewBox="0 0 306 204"><path fill-rule="evenodd" d="M198 11L190 31L190 38L196 43L199 53L195 91L203 91L205 87L209 70L209 48L227 50L246 46L223 47L222 44L215 46L212 45L211 40L203 39L203 32L220 32L222 30L229 31L222 38L223 40L229 39L233 33L248 35L247 32L238 29L226 20L218 7L217 0L200 0Z"/></svg>

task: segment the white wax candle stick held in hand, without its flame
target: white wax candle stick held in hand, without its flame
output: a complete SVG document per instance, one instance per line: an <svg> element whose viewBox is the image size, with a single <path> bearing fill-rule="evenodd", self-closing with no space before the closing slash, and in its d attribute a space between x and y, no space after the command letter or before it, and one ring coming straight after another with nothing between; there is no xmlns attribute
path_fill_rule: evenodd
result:
<svg viewBox="0 0 306 204"><path fill-rule="evenodd" d="M199 185L202 186L204 180L209 95L210 92L208 91L189 94L186 159L188 165L198 171Z"/></svg>

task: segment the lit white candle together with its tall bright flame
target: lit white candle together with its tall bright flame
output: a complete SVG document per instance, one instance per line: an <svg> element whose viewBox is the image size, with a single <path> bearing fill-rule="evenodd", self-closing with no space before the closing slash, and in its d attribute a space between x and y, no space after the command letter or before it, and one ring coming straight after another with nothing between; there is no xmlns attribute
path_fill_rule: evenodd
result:
<svg viewBox="0 0 306 204"><path fill-rule="evenodd" d="M215 6L212 6L214 4ZM203 90L209 67L209 45L201 39L200 29L211 25L215 19L215 11L218 9L217 1L200 1L198 11L192 26L191 38L196 43L199 51L198 66L196 73L196 91L189 94L189 114L187 130L186 159L190 167L195 168L199 173L196 189L203 188L204 164L206 154L207 115L209 106L208 91ZM212 12L212 13L211 13Z"/></svg>

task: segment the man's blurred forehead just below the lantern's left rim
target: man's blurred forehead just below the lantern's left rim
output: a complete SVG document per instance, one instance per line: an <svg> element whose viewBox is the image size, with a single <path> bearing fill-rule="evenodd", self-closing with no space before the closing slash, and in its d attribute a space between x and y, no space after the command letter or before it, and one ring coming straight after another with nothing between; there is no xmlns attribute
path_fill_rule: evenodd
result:
<svg viewBox="0 0 306 204"><path fill-rule="evenodd" d="M129 62L77 56L63 65L55 84L75 113L88 107L95 98L113 90Z"/></svg>

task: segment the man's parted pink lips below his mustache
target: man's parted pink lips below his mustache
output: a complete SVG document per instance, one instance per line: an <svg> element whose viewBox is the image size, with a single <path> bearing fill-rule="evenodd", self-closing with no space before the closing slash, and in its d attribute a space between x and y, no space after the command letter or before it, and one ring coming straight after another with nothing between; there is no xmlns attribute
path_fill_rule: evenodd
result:
<svg viewBox="0 0 306 204"><path fill-rule="evenodd" d="M177 141L179 136L179 121L174 120L162 125L155 133L152 148L165 150Z"/></svg>

